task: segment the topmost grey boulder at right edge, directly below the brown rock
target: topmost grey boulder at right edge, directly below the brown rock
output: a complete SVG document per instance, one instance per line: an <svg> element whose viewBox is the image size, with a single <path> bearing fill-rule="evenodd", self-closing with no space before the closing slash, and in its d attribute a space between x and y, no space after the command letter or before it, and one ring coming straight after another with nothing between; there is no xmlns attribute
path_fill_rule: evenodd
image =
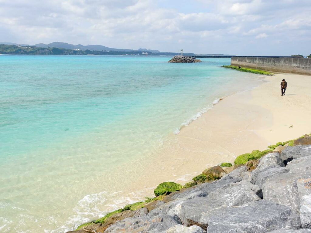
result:
<svg viewBox="0 0 311 233"><path fill-rule="evenodd" d="M281 158L285 165L293 159L309 155L311 155L311 145L287 146L281 152Z"/></svg>

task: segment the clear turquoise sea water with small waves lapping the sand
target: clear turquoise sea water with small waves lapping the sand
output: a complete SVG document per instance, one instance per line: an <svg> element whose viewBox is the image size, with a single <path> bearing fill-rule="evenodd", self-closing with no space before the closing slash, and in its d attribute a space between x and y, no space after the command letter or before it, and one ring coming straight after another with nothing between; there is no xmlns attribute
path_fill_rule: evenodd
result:
<svg viewBox="0 0 311 233"><path fill-rule="evenodd" d="M230 59L169 59L0 56L1 232L65 232L142 199L152 187L122 187L169 136L260 82Z"/></svg>

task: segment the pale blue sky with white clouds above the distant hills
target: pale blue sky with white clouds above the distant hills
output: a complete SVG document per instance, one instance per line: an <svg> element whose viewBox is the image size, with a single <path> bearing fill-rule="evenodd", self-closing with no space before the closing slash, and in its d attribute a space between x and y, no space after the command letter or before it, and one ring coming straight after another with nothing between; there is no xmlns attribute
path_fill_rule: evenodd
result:
<svg viewBox="0 0 311 233"><path fill-rule="evenodd" d="M311 0L0 0L0 42L309 55Z"/></svg>

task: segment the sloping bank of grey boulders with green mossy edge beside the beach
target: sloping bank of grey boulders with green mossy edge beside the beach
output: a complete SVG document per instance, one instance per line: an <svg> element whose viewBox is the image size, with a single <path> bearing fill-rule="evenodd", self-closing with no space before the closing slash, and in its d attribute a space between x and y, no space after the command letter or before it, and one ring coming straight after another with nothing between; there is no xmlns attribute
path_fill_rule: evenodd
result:
<svg viewBox="0 0 311 233"><path fill-rule="evenodd" d="M67 233L311 233L311 135L268 148Z"/></svg>

